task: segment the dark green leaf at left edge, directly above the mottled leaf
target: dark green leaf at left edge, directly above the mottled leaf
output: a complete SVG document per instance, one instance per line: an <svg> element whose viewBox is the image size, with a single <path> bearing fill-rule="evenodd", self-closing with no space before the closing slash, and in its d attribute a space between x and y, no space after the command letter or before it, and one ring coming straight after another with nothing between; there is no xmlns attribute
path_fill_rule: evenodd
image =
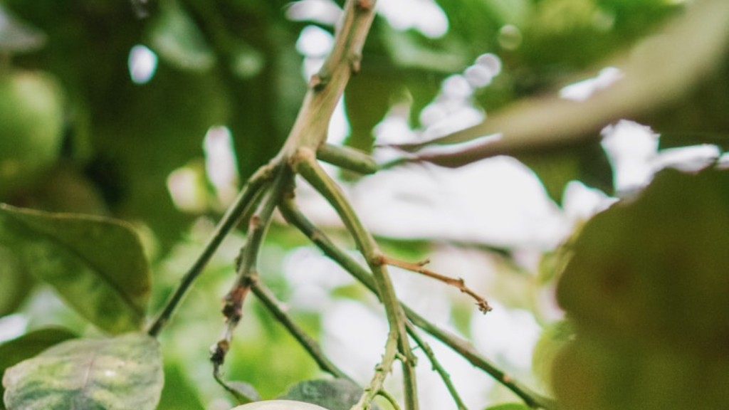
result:
<svg viewBox="0 0 729 410"><path fill-rule="evenodd" d="M117 334L143 325L150 275L130 225L0 204L0 244L99 328Z"/></svg>

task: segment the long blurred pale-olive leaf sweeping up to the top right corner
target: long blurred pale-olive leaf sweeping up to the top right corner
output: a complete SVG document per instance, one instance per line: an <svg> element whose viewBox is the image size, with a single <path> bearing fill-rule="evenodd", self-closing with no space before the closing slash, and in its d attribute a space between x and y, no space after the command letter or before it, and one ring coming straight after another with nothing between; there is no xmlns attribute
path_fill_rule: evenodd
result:
<svg viewBox="0 0 729 410"><path fill-rule="evenodd" d="M435 144L470 142L460 150L451 147L444 152L432 150L417 155L418 160L461 166L494 155L540 152L547 147L597 139L598 131L612 121L640 115L685 96L718 61L723 61L728 27L729 3L697 1L663 34L645 39L628 58L617 59L615 66L620 67L623 77L585 101L558 97L524 100L479 125L402 148L419 150ZM500 137L479 140L494 134Z"/></svg>

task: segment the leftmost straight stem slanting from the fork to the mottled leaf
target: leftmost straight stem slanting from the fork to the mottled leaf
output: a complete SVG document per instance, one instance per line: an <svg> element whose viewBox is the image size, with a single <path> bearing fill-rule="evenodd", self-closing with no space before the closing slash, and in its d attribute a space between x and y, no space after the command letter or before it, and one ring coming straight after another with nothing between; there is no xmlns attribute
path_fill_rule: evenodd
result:
<svg viewBox="0 0 729 410"><path fill-rule="evenodd" d="M255 205L260 200L262 191L265 190L265 185L270 182L271 169L272 167L270 165L262 166L255 174L252 175L248 182L246 182L246 185L243 185L241 192L238 193L238 197L235 198L233 204L227 209L222 219L215 227L215 231L205 244L203 252L200 253L198 259L195 260L195 263L192 264L187 273L182 276L179 285L172 295L170 295L170 298L165 303L164 308L159 314L157 314L157 318L154 322L152 322L152 325L149 326L147 330L149 336L156 337L159 335L160 331L171 319L184 295L187 294L187 291L190 290L190 287L192 287L192 283L195 282L195 279L197 279L203 272L203 269L215 254L215 251L218 249L223 239L225 239L227 234L230 233L236 225L241 223L243 215L250 212L251 209L254 209Z"/></svg>

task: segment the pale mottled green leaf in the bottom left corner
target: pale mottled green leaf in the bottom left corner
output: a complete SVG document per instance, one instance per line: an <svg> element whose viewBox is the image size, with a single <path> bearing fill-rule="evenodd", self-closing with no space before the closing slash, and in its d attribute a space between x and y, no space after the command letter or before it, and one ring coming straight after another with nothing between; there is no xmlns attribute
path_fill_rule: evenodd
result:
<svg viewBox="0 0 729 410"><path fill-rule="evenodd" d="M8 410L154 410L162 359L144 333L72 340L9 368L2 382Z"/></svg>

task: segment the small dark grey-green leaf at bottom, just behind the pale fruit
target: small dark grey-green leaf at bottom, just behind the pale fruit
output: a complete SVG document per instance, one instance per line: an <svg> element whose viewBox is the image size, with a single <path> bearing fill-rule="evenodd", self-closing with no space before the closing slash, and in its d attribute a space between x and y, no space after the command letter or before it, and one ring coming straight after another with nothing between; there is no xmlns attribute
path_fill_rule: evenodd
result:
<svg viewBox="0 0 729 410"><path fill-rule="evenodd" d="M293 385L281 395L284 400L305 401L329 410L348 410L362 397L364 390L356 384L344 380L307 380ZM373 406L373 409L378 409Z"/></svg>

